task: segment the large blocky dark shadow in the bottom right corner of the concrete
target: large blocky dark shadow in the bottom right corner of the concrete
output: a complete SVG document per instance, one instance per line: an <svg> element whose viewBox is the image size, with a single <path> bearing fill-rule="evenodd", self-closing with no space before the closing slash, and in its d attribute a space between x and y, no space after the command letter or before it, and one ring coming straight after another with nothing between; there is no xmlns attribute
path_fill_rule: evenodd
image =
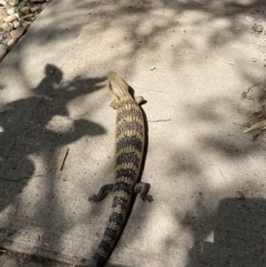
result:
<svg viewBox="0 0 266 267"><path fill-rule="evenodd" d="M183 226L194 238L187 267L265 266L266 201L223 199L214 214L188 214Z"/></svg>

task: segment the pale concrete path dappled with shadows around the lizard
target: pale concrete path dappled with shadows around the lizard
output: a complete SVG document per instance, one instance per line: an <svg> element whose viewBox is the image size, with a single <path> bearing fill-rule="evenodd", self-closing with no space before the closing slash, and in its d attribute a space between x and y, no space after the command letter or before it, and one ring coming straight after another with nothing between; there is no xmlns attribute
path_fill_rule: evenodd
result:
<svg viewBox="0 0 266 267"><path fill-rule="evenodd" d="M154 202L136 198L106 266L265 266L265 136L241 126L265 99L265 1L53 0L0 64L0 176L41 175L0 179L1 247L72 266L95 250L113 70L147 100Z"/></svg>

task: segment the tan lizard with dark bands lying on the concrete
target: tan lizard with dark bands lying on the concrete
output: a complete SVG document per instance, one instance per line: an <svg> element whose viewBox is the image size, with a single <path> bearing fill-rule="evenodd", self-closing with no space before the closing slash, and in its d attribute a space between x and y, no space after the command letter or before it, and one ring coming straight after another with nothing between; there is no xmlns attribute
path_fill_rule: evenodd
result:
<svg viewBox="0 0 266 267"><path fill-rule="evenodd" d="M114 198L108 226L89 267L101 267L108 260L125 224L133 194L141 193L143 201L153 201L153 197L147 195L150 184L137 183L145 144L145 125L139 106L143 97L134 99L126 82L114 72L109 72L108 80L114 99L111 106L116 110L115 182L103 185L98 195L89 199L100 202L110 192L114 193Z"/></svg>

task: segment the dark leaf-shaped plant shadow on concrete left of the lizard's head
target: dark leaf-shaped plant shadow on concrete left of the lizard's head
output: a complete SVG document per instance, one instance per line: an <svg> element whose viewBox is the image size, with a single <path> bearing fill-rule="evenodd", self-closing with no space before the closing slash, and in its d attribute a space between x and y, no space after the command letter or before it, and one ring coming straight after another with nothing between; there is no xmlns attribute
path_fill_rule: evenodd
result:
<svg viewBox="0 0 266 267"><path fill-rule="evenodd" d="M45 78L32 90L34 94L32 97L6 104L0 121L2 130L0 135L0 158L4 158L4 161L0 162L2 176L10 177L11 179L12 177L16 179L16 177L29 176L34 173L34 170L29 161L21 161L27 155L40 153L42 150L47 152L51 146L55 151L57 147L73 142L85 134L98 135L105 132L101 125L84 120L73 121L73 125L69 132L64 130L60 131L59 129L54 133L52 130L49 130L47 124L53 116L70 116L66 110L66 104L70 101L102 89L104 85L101 83L105 81L105 78L82 79L76 76L71 82L61 83L62 75L63 73L55 65L47 64ZM27 111L27 114L21 116L21 112L23 111ZM21 131L23 132L21 133ZM29 142L31 146L23 146L22 144L18 146L17 144L17 147L12 148L12 146L16 146L16 143L4 143L6 138L10 136L17 137L16 143L23 142L25 144L31 140L34 143ZM13 155L9 158L8 154L12 154L11 150L19 153L17 154L19 155L17 158ZM19 170L18 175L12 175L13 171L11 170Z"/></svg>

